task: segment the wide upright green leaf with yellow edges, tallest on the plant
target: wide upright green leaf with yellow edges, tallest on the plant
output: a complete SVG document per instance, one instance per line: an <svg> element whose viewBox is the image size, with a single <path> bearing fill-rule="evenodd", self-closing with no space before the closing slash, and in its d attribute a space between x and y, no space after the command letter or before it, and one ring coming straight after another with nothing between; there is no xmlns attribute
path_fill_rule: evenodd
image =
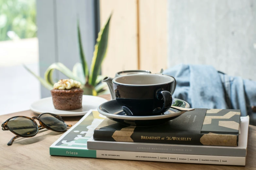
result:
<svg viewBox="0 0 256 170"><path fill-rule="evenodd" d="M106 55L111 15L104 27L101 28L100 32L98 33L97 42L94 47L94 54L88 80L89 84L93 86L96 84L96 79L100 72L101 63Z"/></svg>

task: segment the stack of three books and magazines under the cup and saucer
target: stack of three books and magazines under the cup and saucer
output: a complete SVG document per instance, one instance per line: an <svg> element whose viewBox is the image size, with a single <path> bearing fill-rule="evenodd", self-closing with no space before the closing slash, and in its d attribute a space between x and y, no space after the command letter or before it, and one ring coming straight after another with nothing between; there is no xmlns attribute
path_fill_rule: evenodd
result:
<svg viewBox="0 0 256 170"><path fill-rule="evenodd" d="M50 155L245 165L248 125L240 110L195 109L149 127L123 125L91 110L51 145Z"/></svg>

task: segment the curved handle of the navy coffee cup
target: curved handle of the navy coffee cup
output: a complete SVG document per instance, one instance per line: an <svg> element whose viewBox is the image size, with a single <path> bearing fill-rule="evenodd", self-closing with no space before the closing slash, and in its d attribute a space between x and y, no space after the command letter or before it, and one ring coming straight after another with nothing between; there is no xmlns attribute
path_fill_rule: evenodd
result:
<svg viewBox="0 0 256 170"><path fill-rule="evenodd" d="M161 109L155 109L155 114L160 114L166 112L172 106L172 94L168 91L158 90L157 91L157 99L163 100L163 106Z"/></svg>

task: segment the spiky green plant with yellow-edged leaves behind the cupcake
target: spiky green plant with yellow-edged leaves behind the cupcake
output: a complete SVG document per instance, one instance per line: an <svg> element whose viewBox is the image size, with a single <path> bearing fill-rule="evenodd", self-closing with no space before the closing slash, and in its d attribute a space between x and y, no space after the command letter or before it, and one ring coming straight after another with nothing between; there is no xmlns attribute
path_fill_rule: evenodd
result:
<svg viewBox="0 0 256 170"><path fill-rule="evenodd" d="M106 83L100 83L102 80L102 76L100 76L100 67L102 61L106 55L107 46L108 46L108 35L109 35L109 25L110 25L111 15L105 25L100 29L98 33L98 38L96 40L96 44L94 47L94 54L92 58L91 68L89 70L84 51L82 48L81 41L81 33L79 22L77 22L77 32L78 32L78 44L79 44L79 56L81 63L77 63L73 67L73 71L67 68L62 63L53 63L51 64L44 73L44 78L33 73L29 68L24 65L27 71L33 74L41 84L47 88L48 90L53 89L54 81L53 81L53 72L54 70L59 70L68 78L77 80L82 83L82 88L84 90L84 94L87 95L98 95L106 93L105 87Z"/></svg>

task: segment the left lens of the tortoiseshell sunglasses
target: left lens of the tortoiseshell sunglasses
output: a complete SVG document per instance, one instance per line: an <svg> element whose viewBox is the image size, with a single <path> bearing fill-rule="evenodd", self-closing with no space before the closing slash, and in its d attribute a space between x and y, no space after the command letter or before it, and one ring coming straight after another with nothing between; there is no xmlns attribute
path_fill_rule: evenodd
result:
<svg viewBox="0 0 256 170"><path fill-rule="evenodd" d="M23 117L10 119L7 126L13 132L24 136L32 136L38 132L38 126L32 120Z"/></svg>

